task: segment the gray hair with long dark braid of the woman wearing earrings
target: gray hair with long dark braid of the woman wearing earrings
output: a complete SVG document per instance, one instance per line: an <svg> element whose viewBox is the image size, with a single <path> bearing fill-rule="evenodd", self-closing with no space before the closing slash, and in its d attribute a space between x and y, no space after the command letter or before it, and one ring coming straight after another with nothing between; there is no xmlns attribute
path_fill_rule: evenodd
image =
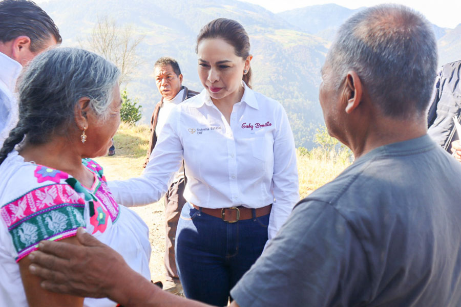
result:
<svg viewBox="0 0 461 307"><path fill-rule="evenodd" d="M19 121L0 150L0 163L27 136L31 144L76 129L74 108L82 97L106 120L120 71L101 56L76 48L54 48L36 56L19 76Z"/></svg>

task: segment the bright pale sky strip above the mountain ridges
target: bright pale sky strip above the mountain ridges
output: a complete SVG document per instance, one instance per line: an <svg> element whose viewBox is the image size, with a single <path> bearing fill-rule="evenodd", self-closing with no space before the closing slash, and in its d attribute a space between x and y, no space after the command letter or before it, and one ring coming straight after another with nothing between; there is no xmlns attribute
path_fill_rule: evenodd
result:
<svg viewBox="0 0 461 307"><path fill-rule="evenodd" d="M357 9L360 7L369 7L382 3L398 3L409 6L426 16L432 23L442 28L455 28L461 24L461 0L393 0L389 2L380 0L334 0L331 2L320 0L241 0L254 3L265 9L279 13L291 9L302 8L311 5L335 3L337 5Z"/></svg>

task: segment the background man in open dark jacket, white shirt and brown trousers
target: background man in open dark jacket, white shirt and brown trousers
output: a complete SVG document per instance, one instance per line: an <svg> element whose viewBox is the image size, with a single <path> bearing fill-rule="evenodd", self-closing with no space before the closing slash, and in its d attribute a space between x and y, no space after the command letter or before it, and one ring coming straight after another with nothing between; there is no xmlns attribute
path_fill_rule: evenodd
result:
<svg viewBox="0 0 461 307"><path fill-rule="evenodd" d="M148 156L144 167L149 162L151 152L157 143L157 139L165 125L171 110L187 98L198 94L182 86L182 74L178 62L171 57L161 57L154 64L155 84L162 95L161 100L155 106L151 118L151 138L149 140ZM175 262L175 236L178 226L179 214L185 204L183 197L185 187L184 167L178 170L165 195L165 270L166 279L163 289L173 294L182 293L181 282Z"/></svg>

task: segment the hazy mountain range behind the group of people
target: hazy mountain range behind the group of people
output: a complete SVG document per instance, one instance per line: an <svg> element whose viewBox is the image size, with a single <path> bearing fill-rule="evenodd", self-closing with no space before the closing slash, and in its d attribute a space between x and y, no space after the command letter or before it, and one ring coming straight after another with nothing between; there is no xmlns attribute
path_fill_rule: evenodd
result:
<svg viewBox="0 0 461 307"><path fill-rule="evenodd" d="M272 13L261 6L235 0L51 0L41 4L60 29L63 46L79 46L98 17L129 24L144 39L137 49L141 64L127 85L129 96L142 105L148 123L160 99L153 63L161 56L178 60L183 84L201 91L195 54L202 26L218 17L236 19L252 45L253 88L285 107L297 146L312 147L312 136L323 116L318 103L320 69L334 33L357 10L334 4ZM439 63L461 58L461 24L455 29L433 25Z"/></svg>

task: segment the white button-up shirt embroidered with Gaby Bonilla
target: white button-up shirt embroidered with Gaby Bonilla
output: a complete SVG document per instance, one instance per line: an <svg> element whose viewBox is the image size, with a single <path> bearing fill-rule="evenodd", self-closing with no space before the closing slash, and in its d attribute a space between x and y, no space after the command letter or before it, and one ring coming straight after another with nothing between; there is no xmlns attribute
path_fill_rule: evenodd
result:
<svg viewBox="0 0 461 307"><path fill-rule="evenodd" d="M230 124L206 90L176 106L141 177L109 183L117 202L158 201L184 159L188 202L203 208L273 204L268 236L275 236L299 201L295 142L282 105L243 86Z"/></svg>

